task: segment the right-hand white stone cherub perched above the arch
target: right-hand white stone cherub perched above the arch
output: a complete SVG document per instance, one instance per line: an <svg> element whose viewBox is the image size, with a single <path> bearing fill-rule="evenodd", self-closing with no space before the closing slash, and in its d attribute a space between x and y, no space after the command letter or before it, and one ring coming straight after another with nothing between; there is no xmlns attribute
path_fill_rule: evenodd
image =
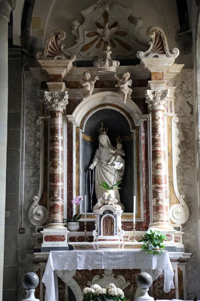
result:
<svg viewBox="0 0 200 301"><path fill-rule="evenodd" d="M116 74L114 75L115 79L118 81L118 83L115 85L115 87L119 87L119 93L123 95L123 102L126 103L126 98L129 97L132 93L132 89L130 89L128 86L132 85L132 80L129 79L130 73L125 72L122 75L122 78L118 78Z"/></svg>

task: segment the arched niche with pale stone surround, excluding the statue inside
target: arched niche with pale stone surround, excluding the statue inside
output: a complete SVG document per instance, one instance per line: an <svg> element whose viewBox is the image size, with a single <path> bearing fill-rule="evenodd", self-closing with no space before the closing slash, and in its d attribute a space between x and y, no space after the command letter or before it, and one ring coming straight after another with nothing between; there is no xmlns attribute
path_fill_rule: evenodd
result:
<svg viewBox="0 0 200 301"><path fill-rule="evenodd" d="M116 145L118 135L123 137L125 172L120 199L125 212L132 212L133 195L138 196L141 205L139 220L142 220L141 123L147 119L147 115L142 114L131 99L123 103L118 93L100 92L82 101L67 118L73 124L73 196L86 194L87 212L91 212L88 166L98 148L96 129L103 122L108 127L108 136L113 146ZM92 206L95 204L94 196ZM83 212L84 208L80 210Z"/></svg>

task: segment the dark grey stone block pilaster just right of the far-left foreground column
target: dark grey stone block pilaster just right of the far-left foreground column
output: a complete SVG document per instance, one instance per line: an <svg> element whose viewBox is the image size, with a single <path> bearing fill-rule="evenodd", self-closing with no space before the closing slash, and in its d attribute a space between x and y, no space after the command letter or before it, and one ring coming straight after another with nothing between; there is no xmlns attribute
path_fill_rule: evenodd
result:
<svg viewBox="0 0 200 301"><path fill-rule="evenodd" d="M8 50L8 118L3 301L16 300L21 131L21 50ZM4 214L2 211L1 214Z"/></svg>

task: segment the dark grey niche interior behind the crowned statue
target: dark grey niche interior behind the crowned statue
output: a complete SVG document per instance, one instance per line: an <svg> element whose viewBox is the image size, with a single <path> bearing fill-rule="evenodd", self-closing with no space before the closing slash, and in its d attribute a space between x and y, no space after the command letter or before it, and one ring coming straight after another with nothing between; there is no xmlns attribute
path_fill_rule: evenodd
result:
<svg viewBox="0 0 200 301"><path fill-rule="evenodd" d="M125 206L125 212L133 212L134 195L134 160L133 160L133 138L130 137L130 126L127 119L118 111L113 109L102 109L93 113L87 120L83 134L88 139L82 138L82 194L87 197L87 212L92 212L90 206L89 170L95 150L98 148L97 127L103 122L103 126L108 128L107 135L113 146L116 146L116 138L129 136L122 141L122 149L125 152L125 169L122 183L120 184L120 201ZM92 172L91 172L92 176ZM95 183L92 197L92 206L96 204ZM84 208L83 208L84 210Z"/></svg>

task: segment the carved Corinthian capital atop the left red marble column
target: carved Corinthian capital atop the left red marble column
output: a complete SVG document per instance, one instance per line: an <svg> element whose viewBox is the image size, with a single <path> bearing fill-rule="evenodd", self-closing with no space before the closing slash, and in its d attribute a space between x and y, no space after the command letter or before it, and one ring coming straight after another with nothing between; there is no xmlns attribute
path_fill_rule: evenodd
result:
<svg viewBox="0 0 200 301"><path fill-rule="evenodd" d="M44 92L44 100L48 111L61 111L66 108L68 104L67 91L49 91Z"/></svg>

